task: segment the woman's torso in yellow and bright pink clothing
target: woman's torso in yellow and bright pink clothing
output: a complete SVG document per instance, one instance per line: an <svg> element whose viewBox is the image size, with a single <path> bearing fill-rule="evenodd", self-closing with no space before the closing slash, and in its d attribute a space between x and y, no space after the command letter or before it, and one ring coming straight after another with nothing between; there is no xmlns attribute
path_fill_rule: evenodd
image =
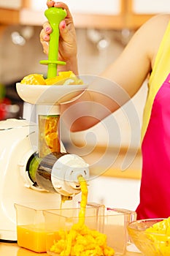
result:
<svg viewBox="0 0 170 256"><path fill-rule="evenodd" d="M169 73L170 22L155 58L148 83L142 127L143 166L140 203L136 209L138 219L170 216ZM165 80L166 82L163 83Z"/></svg>

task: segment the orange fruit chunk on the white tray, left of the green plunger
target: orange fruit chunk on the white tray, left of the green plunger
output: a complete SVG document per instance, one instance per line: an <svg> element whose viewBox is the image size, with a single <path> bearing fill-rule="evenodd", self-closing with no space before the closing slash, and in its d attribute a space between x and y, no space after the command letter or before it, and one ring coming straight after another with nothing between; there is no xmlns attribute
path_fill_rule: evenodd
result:
<svg viewBox="0 0 170 256"><path fill-rule="evenodd" d="M23 84L29 84L29 85L45 85L45 78L43 78L43 75L40 74L31 74L26 75L23 80L20 81L20 83Z"/></svg>

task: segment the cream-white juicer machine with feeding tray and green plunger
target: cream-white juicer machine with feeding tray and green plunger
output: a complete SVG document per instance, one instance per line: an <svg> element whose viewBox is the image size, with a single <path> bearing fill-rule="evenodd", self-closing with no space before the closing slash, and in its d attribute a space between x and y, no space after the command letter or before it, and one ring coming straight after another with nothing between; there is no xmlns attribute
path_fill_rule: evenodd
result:
<svg viewBox="0 0 170 256"><path fill-rule="evenodd" d="M50 7L45 11L53 33L50 36L47 78L55 77L58 59L58 24L65 10ZM53 43L51 43L53 42ZM55 45L55 46L54 46ZM57 47L56 47L57 46ZM50 54L52 53L52 54ZM42 61L42 63L45 61ZM19 96L34 104L41 117L58 121L60 104L74 100L85 91L86 85L41 86L17 84ZM55 119L56 118L56 119ZM56 122L55 122L56 124ZM60 143L55 151L43 151L39 128L23 119L0 121L0 241L17 241L14 204L37 208L59 208L61 200L70 200L80 192L79 176L89 177L88 164L75 154L62 154ZM57 130L55 130L55 135ZM43 137L43 136L42 136ZM40 139L38 139L40 138Z"/></svg>

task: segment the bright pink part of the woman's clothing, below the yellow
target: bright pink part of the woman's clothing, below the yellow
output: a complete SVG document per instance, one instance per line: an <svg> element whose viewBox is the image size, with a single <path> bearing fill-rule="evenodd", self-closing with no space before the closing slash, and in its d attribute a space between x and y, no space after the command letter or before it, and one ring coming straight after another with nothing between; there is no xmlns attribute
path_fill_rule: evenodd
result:
<svg viewBox="0 0 170 256"><path fill-rule="evenodd" d="M169 67L170 70L170 67ZM170 216L170 74L155 96L142 142L138 219Z"/></svg>

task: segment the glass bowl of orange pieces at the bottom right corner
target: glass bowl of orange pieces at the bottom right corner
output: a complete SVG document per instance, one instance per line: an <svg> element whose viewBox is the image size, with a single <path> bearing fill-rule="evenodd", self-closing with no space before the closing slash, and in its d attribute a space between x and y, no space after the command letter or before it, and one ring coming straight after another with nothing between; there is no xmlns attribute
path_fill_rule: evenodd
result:
<svg viewBox="0 0 170 256"><path fill-rule="evenodd" d="M131 222L128 225L128 233L143 255L170 255L170 217Z"/></svg>

